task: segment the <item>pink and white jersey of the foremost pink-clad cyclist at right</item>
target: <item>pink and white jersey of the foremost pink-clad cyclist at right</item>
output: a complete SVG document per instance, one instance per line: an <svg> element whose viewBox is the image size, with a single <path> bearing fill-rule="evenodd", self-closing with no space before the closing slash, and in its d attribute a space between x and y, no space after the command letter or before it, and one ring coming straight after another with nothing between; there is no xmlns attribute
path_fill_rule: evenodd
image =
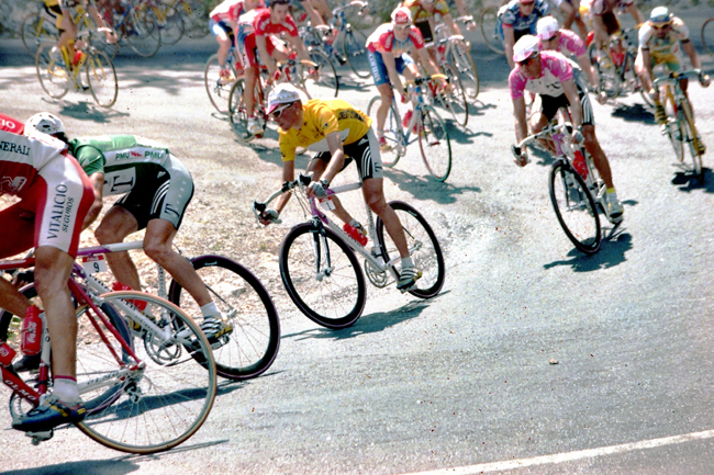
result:
<svg viewBox="0 0 714 475"><path fill-rule="evenodd" d="M523 98L523 91L528 90L535 94L551 95L557 98L564 93L562 81L573 79L572 66L568 59L560 53L540 52L540 77L528 78L521 70L521 65L516 66L509 76L509 87L511 88L511 99Z"/></svg>

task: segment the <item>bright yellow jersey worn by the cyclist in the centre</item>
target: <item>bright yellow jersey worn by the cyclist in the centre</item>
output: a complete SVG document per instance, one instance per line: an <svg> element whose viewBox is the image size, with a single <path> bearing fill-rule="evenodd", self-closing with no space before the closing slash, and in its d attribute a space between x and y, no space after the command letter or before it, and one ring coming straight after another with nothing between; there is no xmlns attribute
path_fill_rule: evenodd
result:
<svg viewBox="0 0 714 475"><path fill-rule="evenodd" d="M330 151L327 135L339 133L343 145L354 144L367 134L372 120L342 99L313 99L302 105L302 126L280 132L282 161L295 159L295 149Z"/></svg>

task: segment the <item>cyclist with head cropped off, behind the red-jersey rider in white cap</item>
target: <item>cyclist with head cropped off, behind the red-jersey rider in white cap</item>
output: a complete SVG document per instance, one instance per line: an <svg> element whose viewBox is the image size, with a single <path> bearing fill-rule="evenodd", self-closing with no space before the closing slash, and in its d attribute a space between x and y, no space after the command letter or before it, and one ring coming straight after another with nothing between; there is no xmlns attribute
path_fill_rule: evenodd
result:
<svg viewBox="0 0 714 475"><path fill-rule="evenodd" d="M258 7L264 7L265 3L263 0L225 0L223 3L214 8L209 14L209 30L215 36L215 41L219 42L219 66L221 67L221 81L224 84L230 83L235 80L232 76L231 70L225 65L225 61L228 57L228 52L231 46L236 46L235 33L238 31L238 18L253 9ZM239 64L235 65L236 72L238 76L243 73L243 66Z"/></svg>

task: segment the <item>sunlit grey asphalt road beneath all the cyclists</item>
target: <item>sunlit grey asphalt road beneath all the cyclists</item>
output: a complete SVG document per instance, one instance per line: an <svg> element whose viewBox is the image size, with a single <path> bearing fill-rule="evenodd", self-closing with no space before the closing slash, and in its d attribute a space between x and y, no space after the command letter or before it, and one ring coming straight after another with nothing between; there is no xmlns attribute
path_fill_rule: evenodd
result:
<svg viewBox="0 0 714 475"><path fill-rule="evenodd" d="M685 20L699 32L710 15L703 10ZM47 98L20 48L16 41L0 43L2 112L26 118L47 110L76 135L137 133L170 144L189 157L197 200L209 212L202 189L225 192L215 213L245 218L250 201L279 184L276 134L244 147L211 113L202 83L210 39L183 41L150 59L120 56L121 89L111 110L94 108L88 94ZM422 302L370 286L357 324L327 330L289 303L279 285L279 240L266 240L265 262L252 270L271 289L282 325L280 353L267 374L224 382L201 430L153 456L107 450L75 429L33 448L0 411L0 470L711 473L714 173L707 168L701 185L673 166L639 98L594 104L625 222L598 255L585 257L550 206L551 159L535 157L525 169L512 161L505 60L476 39L473 56L482 92L468 129L454 131L449 180L426 176L415 145L387 171L388 199L423 211L443 244L442 295ZM704 60L712 71L712 58ZM704 142L714 147L714 88L690 90ZM341 98L366 109L373 93L355 83ZM293 212L267 236L285 235L300 218ZM246 219L245 233L265 231Z"/></svg>

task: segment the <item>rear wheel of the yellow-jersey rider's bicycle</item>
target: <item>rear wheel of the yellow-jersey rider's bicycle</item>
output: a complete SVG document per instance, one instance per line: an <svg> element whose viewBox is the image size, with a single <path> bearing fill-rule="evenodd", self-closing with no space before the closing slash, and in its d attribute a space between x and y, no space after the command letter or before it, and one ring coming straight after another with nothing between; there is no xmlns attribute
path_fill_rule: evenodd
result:
<svg viewBox="0 0 714 475"><path fill-rule="evenodd" d="M402 201L392 201L389 204L402 224L414 265L422 271L421 279L408 292L420 298L435 297L442 291L446 280L444 253L438 239L424 216L412 205ZM384 260L389 262L399 256L399 251L389 233L384 233L384 223L379 217L376 227L380 250Z"/></svg>

